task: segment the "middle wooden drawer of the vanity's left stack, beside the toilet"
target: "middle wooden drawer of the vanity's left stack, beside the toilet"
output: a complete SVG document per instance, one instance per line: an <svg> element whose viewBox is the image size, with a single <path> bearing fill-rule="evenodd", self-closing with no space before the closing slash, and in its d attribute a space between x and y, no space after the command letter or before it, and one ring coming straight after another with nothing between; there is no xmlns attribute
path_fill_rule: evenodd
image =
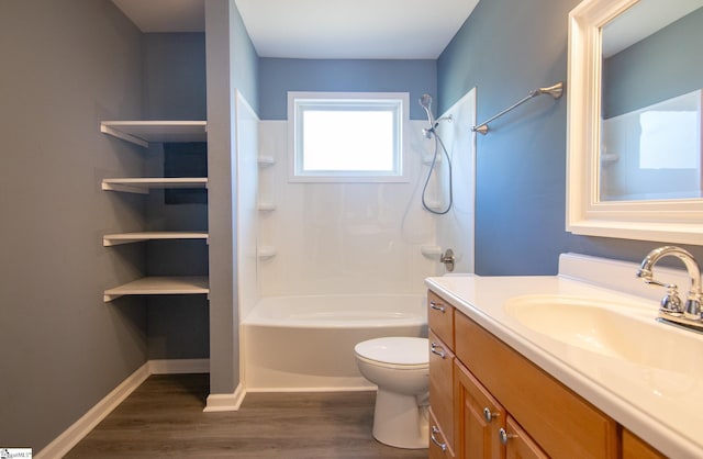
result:
<svg viewBox="0 0 703 459"><path fill-rule="evenodd" d="M429 331L429 404L454 450L454 352Z"/></svg>

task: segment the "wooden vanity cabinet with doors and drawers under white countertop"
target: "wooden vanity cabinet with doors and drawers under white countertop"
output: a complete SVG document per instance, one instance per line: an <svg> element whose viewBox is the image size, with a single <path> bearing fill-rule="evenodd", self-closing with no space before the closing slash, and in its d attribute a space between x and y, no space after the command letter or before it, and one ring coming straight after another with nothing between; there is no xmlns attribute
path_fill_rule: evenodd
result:
<svg viewBox="0 0 703 459"><path fill-rule="evenodd" d="M641 457L621 452L622 429L614 419L434 292L428 293L428 323L431 346L445 345L453 359L448 391L439 381L446 370L433 366L431 354L431 432L446 443L446 450L437 451L431 441L431 458Z"/></svg>

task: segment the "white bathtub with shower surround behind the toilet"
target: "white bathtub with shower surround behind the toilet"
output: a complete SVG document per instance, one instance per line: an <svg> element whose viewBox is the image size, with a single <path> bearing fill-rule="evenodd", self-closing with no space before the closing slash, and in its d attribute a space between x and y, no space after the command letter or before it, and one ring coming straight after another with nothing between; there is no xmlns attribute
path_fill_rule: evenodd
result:
<svg viewBox="0 0 703 459"><path fill-rule="evenodd" d="M365 351L355 354L358 344L426 338L423 279L444 272L438 254L427 247L436 246L435 214L456 205L451 193L438 199L433 192L437 182L450 182L451 173L443 175L454 159L439 124L456 123L457 116L434 119L431 104L424 94L420 105L427 120L411 120L404 131L410 181L401 183L291 183L287 122L259 123L255 157L239 159L239 177L258 180L250 183L257 202L239 202L241 212L250 213L238 221L257 222L241 232L249 239L239 240L258 247L242 250L239 259L247 392L370 390L377 381L359 371ZM264 165L258 152L270 155ZM417 403L426 404L426 396Z"/></svg>

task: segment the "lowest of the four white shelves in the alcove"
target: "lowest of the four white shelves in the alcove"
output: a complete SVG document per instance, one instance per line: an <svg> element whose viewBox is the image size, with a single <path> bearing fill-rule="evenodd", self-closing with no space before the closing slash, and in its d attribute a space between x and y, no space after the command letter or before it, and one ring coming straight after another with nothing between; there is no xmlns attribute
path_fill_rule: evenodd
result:
<svg viewBox="0 0 703 459"><path fill-rule="evenodd" d="M210 293L207 276L146 277L104 291L105 303L122 295Z"/></svg>

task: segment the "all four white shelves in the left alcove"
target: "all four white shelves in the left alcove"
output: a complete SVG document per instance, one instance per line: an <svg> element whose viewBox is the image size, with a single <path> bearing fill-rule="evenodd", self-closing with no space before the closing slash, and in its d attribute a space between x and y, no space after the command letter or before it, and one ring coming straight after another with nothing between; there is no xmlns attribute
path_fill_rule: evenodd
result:
<svg viewBox="0 0 703 459"><path fill-rule="evenodd" d="M144 148L149 143L207 142L205 121L103 121L100 132L131 142ZM152 189L202 189L208 188L207 177L181 178L105 178L102 190L148 194ZM155 239L203 239L209 235L203 231L131 232L105 234L105 247ZM103 300L112 301L122 295L134 294L209 294L207 276L145 277L104 291Z"/></svg>

